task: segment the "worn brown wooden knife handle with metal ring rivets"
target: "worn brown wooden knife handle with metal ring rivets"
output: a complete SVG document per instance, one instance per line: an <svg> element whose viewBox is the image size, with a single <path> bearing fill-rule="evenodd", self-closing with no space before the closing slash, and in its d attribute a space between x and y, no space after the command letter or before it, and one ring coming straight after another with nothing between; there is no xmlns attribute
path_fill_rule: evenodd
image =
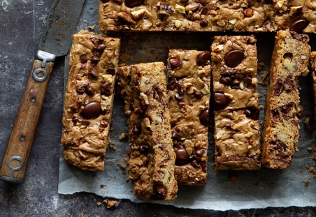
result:
<svg viewBox="0 0 316 217"><path fill-rule="evenodd" d="M4 181L20 183L24 179L54 63L47 62L44 65L38 59L33 63L0 168L0 179Z"/></svg>

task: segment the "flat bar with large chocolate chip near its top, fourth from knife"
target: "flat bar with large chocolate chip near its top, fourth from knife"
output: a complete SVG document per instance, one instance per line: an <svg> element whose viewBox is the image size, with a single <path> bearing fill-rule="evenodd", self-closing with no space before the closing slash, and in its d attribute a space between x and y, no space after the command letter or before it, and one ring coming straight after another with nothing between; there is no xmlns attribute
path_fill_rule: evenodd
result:
<svg viewBox="0 0 316 217"><path fill-rule="evenodd" d="M215 36L210 49L215 169L259 170L256 39L254 36Z"/></svg>

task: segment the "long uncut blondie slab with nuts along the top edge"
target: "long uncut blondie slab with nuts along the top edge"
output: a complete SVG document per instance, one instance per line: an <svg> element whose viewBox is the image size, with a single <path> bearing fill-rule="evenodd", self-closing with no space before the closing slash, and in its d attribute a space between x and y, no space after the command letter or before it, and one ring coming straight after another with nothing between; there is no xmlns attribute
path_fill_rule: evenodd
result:
<svg viewBox="0 0 316 217"><path fill-rule="evenodd" d="M315 33L315 8L310 0L99 0L99 29Z"/></svg>

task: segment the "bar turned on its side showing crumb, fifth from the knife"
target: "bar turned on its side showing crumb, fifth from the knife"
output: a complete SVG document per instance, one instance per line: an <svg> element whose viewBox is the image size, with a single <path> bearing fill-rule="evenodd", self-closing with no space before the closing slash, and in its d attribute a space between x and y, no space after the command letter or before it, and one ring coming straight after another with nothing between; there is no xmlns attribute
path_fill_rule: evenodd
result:
<svg viewBox="0 0 316 217"><path fill-rule="evenodd" d="M307 35L293 31L278 31L275 36L264 107L264 167L285 169L292 163L303 112L299 105L299 77L308 73L308 41Z"/></svg>

